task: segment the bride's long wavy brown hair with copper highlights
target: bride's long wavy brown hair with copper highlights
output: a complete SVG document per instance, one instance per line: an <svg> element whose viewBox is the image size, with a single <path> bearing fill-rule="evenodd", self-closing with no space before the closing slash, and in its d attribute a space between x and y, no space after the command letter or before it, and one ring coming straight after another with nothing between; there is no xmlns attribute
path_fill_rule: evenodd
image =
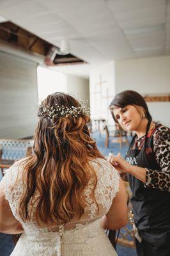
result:
<svg viewBox="0 0 170 256"><path fill-rule="evenodd" d="M77 108L80 103L65 93L53 93L43 103L49 108L65 106ZM104 158L91 139L87 127L88 115L59 116L53 122L41 109L38 111L35 131L35 154L24 167L26 189L20 199L19 214L24 221L31 220L29 202L39 192L35 220L37 223L65 224L84 213L84 189L92 177L92 197L97 185L97 175L90 160ZM95 201L96 202L96 201Z"/></svg>

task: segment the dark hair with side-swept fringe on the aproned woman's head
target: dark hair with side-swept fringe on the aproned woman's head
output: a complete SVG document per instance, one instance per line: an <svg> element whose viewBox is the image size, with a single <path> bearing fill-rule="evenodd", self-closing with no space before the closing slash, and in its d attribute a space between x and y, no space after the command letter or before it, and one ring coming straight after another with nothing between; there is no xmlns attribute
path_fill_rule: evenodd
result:
<svg viewBox="0 0 170 256"><path fill-rule="evenodd" d="M144 109L146 118L151 122L152 118L151 118L151 115L148 110L148 106L147 106L146 102L144 101L141 94L139 94L138 92L132 91L132 90L126 90L126 91L120 92L120 93L116 94L116 96L112 100L109 107L111 109L112 117L114 118L115 122L117 122L117 121L116 121L116 118L112 111L112 109L114 109L114 106L118 107L118 108L125 108L128 105L142 107Z"/></svg>

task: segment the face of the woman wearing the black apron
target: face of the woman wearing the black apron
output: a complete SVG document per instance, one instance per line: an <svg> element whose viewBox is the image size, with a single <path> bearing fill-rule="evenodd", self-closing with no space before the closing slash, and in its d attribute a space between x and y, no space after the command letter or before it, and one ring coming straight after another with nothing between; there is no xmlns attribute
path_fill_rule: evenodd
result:
<svg viewBox="0 0 170 256"><path fill-rule="evenodd" d="M114 107L112 111L123 130L137 131L139 129L142 118L133 105L127 105L125 108Z"/></svg>

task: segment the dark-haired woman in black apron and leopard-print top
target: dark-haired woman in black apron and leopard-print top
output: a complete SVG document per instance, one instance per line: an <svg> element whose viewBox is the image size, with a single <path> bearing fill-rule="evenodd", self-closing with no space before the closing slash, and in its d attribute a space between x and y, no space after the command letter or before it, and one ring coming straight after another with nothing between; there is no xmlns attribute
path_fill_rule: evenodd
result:
<svg viewBox="0 0 170 256"><path fill-rule="evenodd" d="M130 182L137 255L169 256L169 128L152 122L148 106L137 92L118 93L110 108L121 128L135 132L125 159L118 154L109 157L109 162L127 173Z"/></svg>

